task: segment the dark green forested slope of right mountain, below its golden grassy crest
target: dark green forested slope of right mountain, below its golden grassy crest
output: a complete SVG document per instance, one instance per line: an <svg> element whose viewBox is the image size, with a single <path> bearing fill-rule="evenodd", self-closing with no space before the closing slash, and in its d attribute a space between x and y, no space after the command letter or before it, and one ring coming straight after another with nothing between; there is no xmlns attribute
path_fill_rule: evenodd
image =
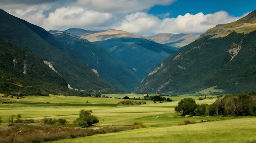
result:
<svg viewBox="0 0 256 143"><path fill-rule="evenodd" d="M254 13L240 20L254 21ZM256 31L248 34L231 32L220 38L204 36L157 65L135 91L185 94L209 87L222 89L225 93L256 90L255 45Z"/></svg>

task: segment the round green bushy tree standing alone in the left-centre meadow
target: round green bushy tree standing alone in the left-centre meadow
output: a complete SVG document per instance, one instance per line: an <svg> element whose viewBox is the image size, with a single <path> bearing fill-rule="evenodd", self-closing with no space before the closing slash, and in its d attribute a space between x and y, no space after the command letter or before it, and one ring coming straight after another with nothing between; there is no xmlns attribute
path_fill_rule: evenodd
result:
<svg viewBox="0 0 256 143"><path fill-rule="evenodd" d="M99 120L96 116L92 115L91 110L84 110L81 109L79 112L79 118L73 121L74 125L83 126L83 127L90 127L93 124L98 123Z"/></svg>

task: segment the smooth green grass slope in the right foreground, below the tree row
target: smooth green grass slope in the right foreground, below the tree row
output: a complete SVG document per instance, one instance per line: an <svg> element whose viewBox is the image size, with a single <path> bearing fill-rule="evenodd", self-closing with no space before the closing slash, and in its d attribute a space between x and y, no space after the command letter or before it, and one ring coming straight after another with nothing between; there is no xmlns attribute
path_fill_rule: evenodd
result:
<svg viewBox="0 0 256 143"><path fill-rule="evenodd" d="M142 128L51 143L255 143L256 118Z"/></svg>

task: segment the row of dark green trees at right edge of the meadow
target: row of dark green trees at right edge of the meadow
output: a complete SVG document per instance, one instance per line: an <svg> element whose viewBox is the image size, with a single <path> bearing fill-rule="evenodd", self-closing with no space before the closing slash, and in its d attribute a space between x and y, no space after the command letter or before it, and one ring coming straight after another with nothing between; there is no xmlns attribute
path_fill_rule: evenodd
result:
<svg viewBox="0 0 256 143"><path fill-rule="evenodd" d="M181 115L250 116L256 115L256 92L238 95L219 95L213 104L196 104L193 98L184 98L175 107Z"/></svg>

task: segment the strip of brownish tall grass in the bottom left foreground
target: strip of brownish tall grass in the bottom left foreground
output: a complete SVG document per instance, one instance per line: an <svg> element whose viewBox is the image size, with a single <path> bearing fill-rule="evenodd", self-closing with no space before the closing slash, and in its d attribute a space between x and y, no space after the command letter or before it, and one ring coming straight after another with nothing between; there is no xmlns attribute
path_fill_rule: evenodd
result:
<svg viewBox="0 0 256 143"><path fill-rule="evenodd" d="M92 136L135 129L136 127L115 127L99 129L61 128L51 125L31 126L15 124L0 129L0 143L42 143L57 141L59 139L72 139L76 137Z"/></svg>

